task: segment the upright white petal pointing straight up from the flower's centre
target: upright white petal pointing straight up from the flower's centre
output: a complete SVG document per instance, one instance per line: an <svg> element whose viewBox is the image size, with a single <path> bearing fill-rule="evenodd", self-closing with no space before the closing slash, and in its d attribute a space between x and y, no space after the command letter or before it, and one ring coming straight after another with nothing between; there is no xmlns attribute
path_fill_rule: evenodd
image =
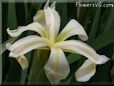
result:
<svg viewBox="0 0 114 86"><path fill-rule="evenodd" d="M54 41L60 28L60 16L54 9L47 8L44 10L46 25L49 32L49 38Z"/></svg>

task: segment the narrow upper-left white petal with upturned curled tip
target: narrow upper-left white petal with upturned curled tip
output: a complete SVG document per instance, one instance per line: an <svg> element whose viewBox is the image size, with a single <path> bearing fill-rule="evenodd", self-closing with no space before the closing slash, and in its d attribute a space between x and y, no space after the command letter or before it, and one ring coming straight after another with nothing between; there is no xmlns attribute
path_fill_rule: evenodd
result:
<svg viewBox="0 0 114 86"><path fill-rule="evenodd" d="M7 33L11 37L17 37L17 36L21 35L21 33L23 33L24 31L28 31L28 30L35 31L35 32L39 33L40 35L43 35L43 32L44 32L44 28L38 22L34 22L27 26L18 27L16 30L10 30L8 28Z"/></svg>

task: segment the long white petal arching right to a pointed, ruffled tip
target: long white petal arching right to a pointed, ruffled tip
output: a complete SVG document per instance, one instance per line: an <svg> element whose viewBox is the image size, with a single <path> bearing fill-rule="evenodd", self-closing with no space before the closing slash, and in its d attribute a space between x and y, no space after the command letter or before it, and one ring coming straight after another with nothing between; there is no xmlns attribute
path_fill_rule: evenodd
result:
<svg viewBox="0 0 114 86"><path fill-rule="evenodd" d="M104 64L109 60L106 56L97 54L89 45L78 40L58 42L54 47L64 49L71 53L81 54L96 64Z"/></svg>

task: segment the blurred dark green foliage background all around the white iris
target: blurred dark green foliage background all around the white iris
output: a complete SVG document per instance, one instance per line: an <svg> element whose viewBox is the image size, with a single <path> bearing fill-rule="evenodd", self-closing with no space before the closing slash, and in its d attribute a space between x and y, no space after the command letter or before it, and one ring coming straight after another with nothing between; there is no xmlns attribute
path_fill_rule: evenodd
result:
<svg viewBox="0 0 114 86"><path fill-rule="evenodd" d="M82 2L83 3L83 2ZM86 2L89 3L89 2ZM94 2L93 2L94 3ZM102 3L105 4L105 3ZM49 84L44 73L43 65L46 60L44 53L48 51L31 51L26 54L29 61L29 68L22 70L14 58L9 58L9 51L5 44L30 34L36 34L31 31L24 32L18 38L10 38L6 32L7 27L16 29L18 26L25 26L33 22L33 16L37 10L43 9L45 2L29 3L8 3L2 2L2 84ZM77 54L67 53L67 60L71 67L69 76L61 81L61 84L113 84L114 83L114 64L113 64L113 30L114 30L114 8L113 7L79 7L76 2L57 3L56 10L61 16L60 30L74 18L86 30L89 39L88 43L97 53L106 55L110 58L106 64L98 65L96 74L85 83L79 83L75 80L74 73L84 62L85 58ZM73 36L69 39L78 39ZM80 40L80 39L78 39ZM42 55L43 54L43 55ZM43 58L43 59L42 59ZM114 58L114 57L113 57ZM41 62L41 65L39 63Z"/></svg>

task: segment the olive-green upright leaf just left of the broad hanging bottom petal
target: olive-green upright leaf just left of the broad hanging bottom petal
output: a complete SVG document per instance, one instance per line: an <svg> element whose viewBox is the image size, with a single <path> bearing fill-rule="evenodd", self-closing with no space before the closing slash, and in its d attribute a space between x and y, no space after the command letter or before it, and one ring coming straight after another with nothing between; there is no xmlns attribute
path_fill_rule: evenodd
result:
<svg viewBox="0 0 114 86"><path fill-rule="evenodd" d="M44 72L44 65L47 62L49 56L49 51L36 50L32 66L29 73L28 83L43 83L47 82L47 77Z"/></svg>

